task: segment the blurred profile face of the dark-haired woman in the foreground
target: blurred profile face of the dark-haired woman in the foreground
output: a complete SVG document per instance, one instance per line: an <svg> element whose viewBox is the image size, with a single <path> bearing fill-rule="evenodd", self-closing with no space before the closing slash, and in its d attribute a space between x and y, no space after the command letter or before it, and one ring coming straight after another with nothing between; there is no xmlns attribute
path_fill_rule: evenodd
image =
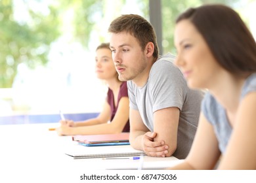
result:
<svg viewBox="0 0 256 183"><path fill-rule="evenodd" d="M175 64L190 88L209 88L221 67L211 54L209 46L190 20L181 20L175 26ZM216 78L217 79L217 78Z"/></svg>

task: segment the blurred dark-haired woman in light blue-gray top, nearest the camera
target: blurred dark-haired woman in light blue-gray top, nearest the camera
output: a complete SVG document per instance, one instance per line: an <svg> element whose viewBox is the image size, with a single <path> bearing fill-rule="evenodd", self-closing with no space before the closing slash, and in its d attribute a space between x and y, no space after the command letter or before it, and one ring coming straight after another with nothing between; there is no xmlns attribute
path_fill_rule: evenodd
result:
<svg viewBox="0 0 256 183"><path fill-rule="evenodd" d="M256 169L256 43L232 8L203 5L177 18L175 63L207 89L192 148L171 169Z"/></svg>

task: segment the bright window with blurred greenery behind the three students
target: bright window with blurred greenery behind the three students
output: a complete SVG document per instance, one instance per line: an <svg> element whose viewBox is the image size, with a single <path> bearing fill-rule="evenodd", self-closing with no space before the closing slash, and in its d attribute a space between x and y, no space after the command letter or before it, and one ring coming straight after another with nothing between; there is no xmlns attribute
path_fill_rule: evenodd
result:
<svg viewBox="0 0 256 183"><path fill-rule="evenodd" d="M60 109L99 112L107 88L94 73L95 48L108 42L108 25L117 16L133 13L150 20L149 1L0 1L0 116ZM223 2L242 14L256 37L256 2L162 0L161 52L175 54L173 28L179 12Z"/></svg>

